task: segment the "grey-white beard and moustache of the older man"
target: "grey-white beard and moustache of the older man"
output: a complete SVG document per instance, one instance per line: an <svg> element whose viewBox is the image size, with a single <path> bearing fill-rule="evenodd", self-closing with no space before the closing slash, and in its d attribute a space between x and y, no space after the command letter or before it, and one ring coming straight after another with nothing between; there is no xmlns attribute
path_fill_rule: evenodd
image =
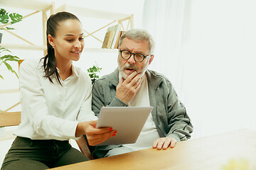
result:
<svg viewBox="0 0 256 170"><path fill-rule="evenodd" d="M128 62L126 64L124 64L123 67L121 67L121 62L119 61L119 59L117 59L117 63L118 63L118 68L119 68L119 73L122 75L122 77L124 79L127 79L127 77L129 76L129 74L125 73L124 71L129 68L129 69L134 69L134 71L137 72L137 74L141 73L142 76L145 74L146 69L149 67L149 60L146 61L146 64L144 65L144 67L142 69L138 69L136 65L134 64L129 64ZM132 74L132 73L130 73Z"/></svg>

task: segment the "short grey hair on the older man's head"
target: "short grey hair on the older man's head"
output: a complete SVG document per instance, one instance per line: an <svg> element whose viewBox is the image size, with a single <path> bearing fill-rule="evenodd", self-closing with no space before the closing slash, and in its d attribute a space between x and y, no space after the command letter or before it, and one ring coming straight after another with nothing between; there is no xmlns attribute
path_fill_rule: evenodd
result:
<svg viewBox="0 0 256 170"><path fill-rule="evenodd" d="M147 40L149 42L149 50L150 54L154 52L154 39L152 36L146 31L138 28L133 28L131 30L127 30L121 36L119 40L119 46L122 45L122 41L124 38L129 38L131 40L140 41L140 40Z"/></svg>

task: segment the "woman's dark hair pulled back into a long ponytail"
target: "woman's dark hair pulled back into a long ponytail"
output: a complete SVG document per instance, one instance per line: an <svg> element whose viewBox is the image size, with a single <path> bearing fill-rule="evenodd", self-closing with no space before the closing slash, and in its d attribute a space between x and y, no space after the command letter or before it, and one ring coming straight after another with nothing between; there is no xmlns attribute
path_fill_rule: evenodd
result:
<svg viewBox="0 0 256 170"><path fill-rule="evenodd" d="M47 21L46 38L47 38L48 54L46 55L46 57L43 57L42 59L43 59L43 69L44 69L44 72L46 73L44 77L47 77L51 83L53 83L53 80L50 79L50 76L54 74L56 79L58 80L58 83L61 85L60 76L57 70L57 63L55 59L54 49L48 42L48 35L51 35L54 38L59 24L63 21L70 20L70 19L80 21L77 16L68 12L55 13L51 15Z"/></svg>

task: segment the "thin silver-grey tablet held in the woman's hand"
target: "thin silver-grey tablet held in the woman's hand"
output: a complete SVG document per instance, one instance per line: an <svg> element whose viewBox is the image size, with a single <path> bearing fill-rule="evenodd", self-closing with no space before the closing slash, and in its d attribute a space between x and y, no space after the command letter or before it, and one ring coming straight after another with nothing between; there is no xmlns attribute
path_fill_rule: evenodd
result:
<svg viewBox="0 0 256 170"><path fill-rule="evenodd" d="M117 135L96 146L135 143L152 109L151 106L102 107L96 127L112 127Z"/></svg>

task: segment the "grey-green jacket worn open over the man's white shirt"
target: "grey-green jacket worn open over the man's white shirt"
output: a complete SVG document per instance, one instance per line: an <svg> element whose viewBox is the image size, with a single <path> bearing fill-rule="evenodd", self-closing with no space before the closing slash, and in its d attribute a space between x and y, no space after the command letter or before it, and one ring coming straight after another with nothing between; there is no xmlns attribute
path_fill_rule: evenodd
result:
<svg viewBox="0 0 256 170"><path fill-rule="evenodd" d="M186 108L178 101L178 96L169 79L157 72L146 70L149 86L149 103L157 132L160 137L174 137L178 142L187 140L193 132L193 125ZM92 85L92 111L98 116L102 106L127 106L116 96L119 83L119 70L97 79ZM152 144L153 145L153 144ZM104 157L107 152L121 145L98 146L92 152L95 158Z"/></svg>

